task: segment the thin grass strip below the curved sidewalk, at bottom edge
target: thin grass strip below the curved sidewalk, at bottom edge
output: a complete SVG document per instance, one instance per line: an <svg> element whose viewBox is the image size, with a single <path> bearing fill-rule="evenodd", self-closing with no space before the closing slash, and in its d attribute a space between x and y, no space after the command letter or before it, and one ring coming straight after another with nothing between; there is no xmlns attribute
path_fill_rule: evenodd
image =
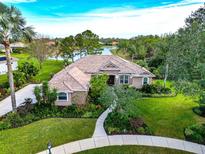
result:
<svg viewBox="0 0 205 154"><path fill-rule="evenodd" d="M189 152L146 146L111 146L83 151L78 154L188 154Z"/></svg>

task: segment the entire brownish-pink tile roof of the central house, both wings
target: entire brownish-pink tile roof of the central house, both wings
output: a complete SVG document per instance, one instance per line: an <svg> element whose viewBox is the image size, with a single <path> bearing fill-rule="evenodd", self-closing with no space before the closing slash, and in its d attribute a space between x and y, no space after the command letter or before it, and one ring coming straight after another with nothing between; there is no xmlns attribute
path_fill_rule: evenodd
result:
<svg viewBox="0 0 205 154"><path fill-rule="evenodd" d="M145 68L113 55L90 55L77 60L57 73L50 81L51 87L62 91L88 91L92 74L118 71L133 76L154 77Z"/></svg>

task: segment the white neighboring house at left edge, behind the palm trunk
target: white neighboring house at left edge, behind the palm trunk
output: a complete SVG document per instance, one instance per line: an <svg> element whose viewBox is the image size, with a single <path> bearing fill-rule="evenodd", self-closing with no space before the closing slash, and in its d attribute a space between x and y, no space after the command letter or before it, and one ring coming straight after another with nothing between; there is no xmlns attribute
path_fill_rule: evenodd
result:
<svg viewBox="0 0 205 154"><path fill-rule="evenodd" d="M12 62L12 69L17 70L18 69L18 59L12 57L11 62ZM6 57L0 57L0 75L6 74L7 72L8 72L8 69L7 69Z"/></svg>

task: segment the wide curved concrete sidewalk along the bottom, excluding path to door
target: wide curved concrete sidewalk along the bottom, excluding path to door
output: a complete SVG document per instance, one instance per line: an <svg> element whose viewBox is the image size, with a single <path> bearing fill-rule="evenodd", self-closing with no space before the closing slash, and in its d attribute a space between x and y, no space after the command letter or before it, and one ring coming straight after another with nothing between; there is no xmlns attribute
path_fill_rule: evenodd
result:
<svg viewBox="0 0 205 154"><path fill-rule="evenodd" d="M85 150L101 148L106 146L122 146L122 145L142 145L152 147L163 147L170 149L183 150L196 154L205 154L205 146L187 142L183 140L146 136L146 135L113 135L104 137L87 138L71 143L67 143L53 148L52 154L71 154ZM48 151L40 152L39 154L48 154Z"/></svg>

